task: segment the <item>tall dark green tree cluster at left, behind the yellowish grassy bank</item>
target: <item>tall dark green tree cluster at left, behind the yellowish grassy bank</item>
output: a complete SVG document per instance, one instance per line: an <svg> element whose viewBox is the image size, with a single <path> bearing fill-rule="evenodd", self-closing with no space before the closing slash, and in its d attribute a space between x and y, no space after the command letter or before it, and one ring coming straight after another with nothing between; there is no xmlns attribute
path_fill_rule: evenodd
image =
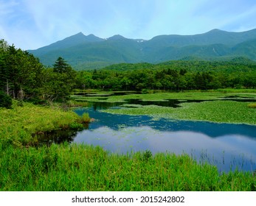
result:
<svg viewBox="0 0 256 206"><path fill-rule="evenodd" d="M63 58L46 68L32 54L0 40L0 107L7 107L7 96L21 102L64 102L75 86L75 78L76 72Z"/></svg>

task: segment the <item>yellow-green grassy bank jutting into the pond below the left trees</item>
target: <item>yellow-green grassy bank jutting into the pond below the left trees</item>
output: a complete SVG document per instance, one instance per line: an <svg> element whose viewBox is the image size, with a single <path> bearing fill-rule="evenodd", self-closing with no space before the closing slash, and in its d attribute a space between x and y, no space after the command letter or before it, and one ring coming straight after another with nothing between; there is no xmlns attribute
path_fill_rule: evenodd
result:
<svg viewBox="0 0 256 206"><path fill-rule="evenodd" d="M69 127L81 127L89 116L77 116L72 111L64 112L59 107L37 106L14 102L12 109L0 108L0 145L21 146L36 141L33 133L48 132Z"/></svg>

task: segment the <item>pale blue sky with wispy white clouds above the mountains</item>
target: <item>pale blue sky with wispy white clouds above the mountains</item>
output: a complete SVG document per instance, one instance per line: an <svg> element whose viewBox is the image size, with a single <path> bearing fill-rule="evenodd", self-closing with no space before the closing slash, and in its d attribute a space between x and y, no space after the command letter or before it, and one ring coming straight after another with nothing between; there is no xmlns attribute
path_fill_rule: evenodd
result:
<svg viewBox="0 0 256 206"><path fill-rule="evenodd" d="M255 29L255 19L255 0L0 0L0 39L26 50L78 32L145 40L241 32Z"/></svg>

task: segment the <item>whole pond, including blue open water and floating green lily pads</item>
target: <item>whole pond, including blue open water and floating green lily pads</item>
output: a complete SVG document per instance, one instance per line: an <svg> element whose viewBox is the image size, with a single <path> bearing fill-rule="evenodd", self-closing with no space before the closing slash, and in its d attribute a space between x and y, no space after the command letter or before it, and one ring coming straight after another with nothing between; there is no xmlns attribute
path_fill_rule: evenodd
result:
<svg viewBox="0 0 256 206"><path fill-rule="evenodd" d="M185 153L219 171L256 169L256 113L248 107L256 100L253 93L103 93L74 98L87 103L75 113L89 113L94 121L83 131L67 132L62 140L52 134L42 141L85 143L119 154ZM198 119L190 113L199 114Z"/></svg>

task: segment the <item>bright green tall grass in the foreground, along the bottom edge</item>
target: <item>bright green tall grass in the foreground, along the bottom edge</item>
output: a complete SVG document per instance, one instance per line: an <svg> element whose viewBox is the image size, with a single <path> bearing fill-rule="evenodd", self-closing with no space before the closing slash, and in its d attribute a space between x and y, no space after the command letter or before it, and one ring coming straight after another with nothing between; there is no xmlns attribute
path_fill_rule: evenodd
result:
<svg viewBox="0 0 256 206"><path fill-rule="evenodd" d="M1 191L255 191L250 172L219 174L187 154L109 154L68 144L0 150Z"/></svg>

